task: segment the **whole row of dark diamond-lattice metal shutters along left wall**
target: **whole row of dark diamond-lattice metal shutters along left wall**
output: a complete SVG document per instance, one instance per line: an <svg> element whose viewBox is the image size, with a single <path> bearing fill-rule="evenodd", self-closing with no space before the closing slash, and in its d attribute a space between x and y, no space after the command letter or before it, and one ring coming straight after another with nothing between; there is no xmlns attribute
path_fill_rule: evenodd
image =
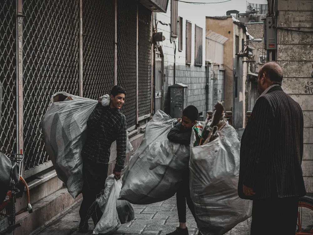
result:
<svg viewBox="0 0 313 235"><path fill-rule="evenodd" d="M20 4L18 10L16 2ZM55 92L96 99L109 93L117 83L126 89L122 112L128 128L134 128L139 117L150 114L151 11L135 0L116 3L115 0L0 1L3 86L0 147L1 151L16 153L22 151L23 145L26 177L52 166L40 121ZM23 24L17 25L17 18ZM18 97L23 97L19 106Z"/></svg>

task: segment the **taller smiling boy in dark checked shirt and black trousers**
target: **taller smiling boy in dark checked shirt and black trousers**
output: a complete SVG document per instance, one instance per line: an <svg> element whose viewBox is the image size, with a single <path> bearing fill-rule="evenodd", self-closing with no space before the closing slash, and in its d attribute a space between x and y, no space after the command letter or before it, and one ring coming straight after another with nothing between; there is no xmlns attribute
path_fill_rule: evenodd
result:
<svg viewBox="0 0 313 235"><path fill-rule="evenodd" d="M97 195L105 188L108 175L110 148L116 140L116 163L113 173L121 178L126 156L126 118L120 109L125 102L125 90L114 86L110 92L110 105L103 107L99 103L90 114L87 121L87 138L82 150L83 157L83 201L80 206L81 233L88 232L90 216L94 224L100 220L100 208L91 208Z"/></svg>

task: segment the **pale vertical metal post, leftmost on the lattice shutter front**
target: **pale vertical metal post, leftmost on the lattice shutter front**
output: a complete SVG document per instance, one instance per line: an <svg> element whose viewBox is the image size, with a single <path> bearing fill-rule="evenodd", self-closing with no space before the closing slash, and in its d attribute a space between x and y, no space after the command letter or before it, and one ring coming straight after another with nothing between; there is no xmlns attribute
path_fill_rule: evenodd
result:
<svg viewBox="0 0 313 235"><path fill-rule="evenodd" d="M16 6L16 152L23 154L23 1L16 0Z"/></svg>

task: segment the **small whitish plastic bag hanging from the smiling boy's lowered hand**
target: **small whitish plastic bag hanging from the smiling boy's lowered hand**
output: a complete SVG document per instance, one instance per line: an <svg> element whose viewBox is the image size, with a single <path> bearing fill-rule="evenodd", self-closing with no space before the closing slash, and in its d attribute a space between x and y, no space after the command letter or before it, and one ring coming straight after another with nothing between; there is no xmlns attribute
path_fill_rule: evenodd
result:
<svg viewBox="0 0 313 235"><path fill-rule="evenodd" d="M96 224L93 234L114 233L121 224L135 219L132 205L128 201L118 200L121 186L121 180L115 179L113 174L105 180L105 190L102 196L96 200L103 215Z"/></svg>

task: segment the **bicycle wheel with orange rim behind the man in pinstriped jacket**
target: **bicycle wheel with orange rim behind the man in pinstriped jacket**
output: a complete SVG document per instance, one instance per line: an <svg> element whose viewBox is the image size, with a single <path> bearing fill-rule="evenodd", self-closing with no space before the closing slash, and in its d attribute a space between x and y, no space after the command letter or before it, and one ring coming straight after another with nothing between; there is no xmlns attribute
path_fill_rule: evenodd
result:
<svg viewBox="0 0 313 235"><path fill-rule="evenodd" d="M313 198L304 196L299 200L296 235L313 234Z"/></svg>

